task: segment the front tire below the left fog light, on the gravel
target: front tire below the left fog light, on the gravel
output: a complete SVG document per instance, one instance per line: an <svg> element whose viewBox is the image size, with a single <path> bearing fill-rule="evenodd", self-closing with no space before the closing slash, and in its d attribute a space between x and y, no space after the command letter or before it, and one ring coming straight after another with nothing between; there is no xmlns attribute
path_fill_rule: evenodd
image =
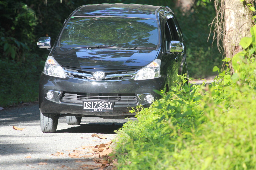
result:
<svg viewBox="0 0 256 170"><path fill-rule="evenodd" d="M45 114L40 112L40 126L44 133L54 133L56 132L58 126L58 119L54 117L54 114Z"/></svg>

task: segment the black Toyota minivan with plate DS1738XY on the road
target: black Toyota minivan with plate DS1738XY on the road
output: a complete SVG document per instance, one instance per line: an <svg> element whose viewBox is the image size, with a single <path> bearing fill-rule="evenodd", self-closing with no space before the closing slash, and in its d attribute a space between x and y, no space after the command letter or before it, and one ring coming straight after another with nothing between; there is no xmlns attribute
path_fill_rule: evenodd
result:
<svg viewBox="0 0 256 170"><path fill-rule="evenodd" d="M79 125L82 117L134 117L130 107L150 106L187 73L186 48L169 7L138 4L84 5L65 20L49 48L40 78L43 132L55 132L58 118Z"/></svg>

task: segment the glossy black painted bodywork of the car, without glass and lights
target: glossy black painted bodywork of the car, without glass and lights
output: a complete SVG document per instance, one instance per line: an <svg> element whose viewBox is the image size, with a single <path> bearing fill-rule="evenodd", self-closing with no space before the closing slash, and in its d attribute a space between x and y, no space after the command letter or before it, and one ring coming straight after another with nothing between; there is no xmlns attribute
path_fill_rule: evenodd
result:
<svg viewBox="0 0 256 170"><path fill-rule="evenodd" d="M118 5L116 5L118 6ZM127 8L130 8L127 10ZM140 9L142 8L142 9ZM106 116L106 115L125 115L133 116L128 112L127 107L136 107L138 104L142 104L147 107L150 104L138 99L138 103L134 105L115 105L113 113L104 112L83 112L81 103L67 103L61 101L61 95L63 91L68 92L92 92L92 93L106 93L106 89L110 93L152 93L155 98L160 96L153 90L164 89L166 86L171 86L173 81L176 80L177 74L181 74L183 71L183 63L186 59L186 49L184 52L169 53L164 48L164 24L167 19L162 19L164 13L169 11L173 16L173 12L167 7L155 7L147 6L149 9L143 9L139 7L134 9L132 6L124 7L122 4L119 8L110 7L106 9L104 4L102 8L98 8L97 5L84 6L77 8L73 11L70 17L86 16L86 15L101 15L101 16L118 16L118 17L142 17L142 18L154 18L159 20L160 30L160 44L155 50L151 49L136 49L136 50L121 50L121 49L85 49L85 48L61 48L59 45L59 36L52 48L49 56L53 56L61 66L68 66L71 68L86 69L90 72L104 70L121 70L121 69L141 69L143 66L149 64L154 59L161 59L161 77L149 80L123 80L107 83L96 83L77 80L72 78L56 78L44 75L42 73L40 78L39 87L39 108L41 113L72 113L80 116ZM155 11L155 14L152 13ZM175 18L175 17L174 17ZM66 21L66 23L67 23ZM62 29L65 27L63 25ZM61 30L62 30L61 29ZM183 42L183 40L182 40ZM184 42L183 42L184 43ZM111 57L108 55L111 54ZM178 57L177 60L175 58ZM111 58L111 61L106 61L106 58ZM56 100L48 101L44 98L47 90L58 90L61 94L58 95Z"/></svg>

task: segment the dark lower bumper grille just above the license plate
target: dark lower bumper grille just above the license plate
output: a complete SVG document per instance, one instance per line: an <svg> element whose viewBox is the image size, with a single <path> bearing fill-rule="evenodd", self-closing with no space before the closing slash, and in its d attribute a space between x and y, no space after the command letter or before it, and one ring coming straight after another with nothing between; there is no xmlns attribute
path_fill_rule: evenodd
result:
<svg viewBox="0 0 256 170"><path fill-rule="evenodd" d="M82 103L83 100L115 101L115 104L136 104L138 102L135 94L115 94L115 93L63 92L61 100L63 102L71 102L71 103Z"/></svg>

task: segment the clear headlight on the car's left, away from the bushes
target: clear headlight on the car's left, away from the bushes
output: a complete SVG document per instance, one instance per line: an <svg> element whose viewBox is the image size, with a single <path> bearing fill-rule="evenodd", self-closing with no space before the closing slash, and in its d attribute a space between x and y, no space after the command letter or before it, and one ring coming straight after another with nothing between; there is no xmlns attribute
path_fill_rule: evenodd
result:
<svg viewBox="0 0 256 170"><path fill-rule="evenodd" d="M48 56L45 62L44 74L54 77L66 78L63 68L52 56Z"/></svg>

